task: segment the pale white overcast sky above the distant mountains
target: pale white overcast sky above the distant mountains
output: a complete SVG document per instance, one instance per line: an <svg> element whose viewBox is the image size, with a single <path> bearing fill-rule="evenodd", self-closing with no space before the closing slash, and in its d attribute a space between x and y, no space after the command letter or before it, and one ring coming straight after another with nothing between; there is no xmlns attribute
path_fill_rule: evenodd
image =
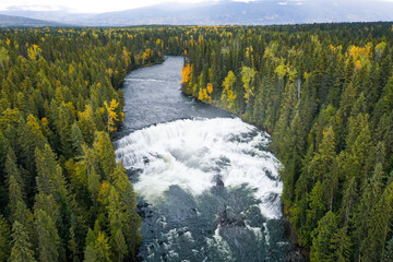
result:
<svg viewBox="0 0 393 262"><path fill-rule="evenodd" d="M169 0L0 0L0 10L7 10L10 7L28 7L29 10L62 10L64 8L73 12L109 12L120 11L133 8L147 7L156 3L168 2ZM213 2L218 0L171 0L177 2ZM249 2L253 0L236 0ZM312 0L277 0L277 2L287 1L312 1ZM320 0L321 1L321 0ZM337 0L324 0L325 2L334 2ZM345 1L345 0L338 0ZM367 0L372 2L373 0ZM380 0L393 1L393 0Z"/></svg>

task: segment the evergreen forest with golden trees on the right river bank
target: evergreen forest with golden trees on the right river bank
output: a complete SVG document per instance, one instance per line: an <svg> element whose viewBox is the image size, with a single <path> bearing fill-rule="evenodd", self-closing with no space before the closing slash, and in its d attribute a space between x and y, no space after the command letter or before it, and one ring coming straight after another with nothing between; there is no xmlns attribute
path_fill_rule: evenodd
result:
<svg viewBox="0 0 393 262"><path fill-rule="evenodd" d="M311 261L393 261L392 24L195 31L183 91L272 135Z"/></svg>

